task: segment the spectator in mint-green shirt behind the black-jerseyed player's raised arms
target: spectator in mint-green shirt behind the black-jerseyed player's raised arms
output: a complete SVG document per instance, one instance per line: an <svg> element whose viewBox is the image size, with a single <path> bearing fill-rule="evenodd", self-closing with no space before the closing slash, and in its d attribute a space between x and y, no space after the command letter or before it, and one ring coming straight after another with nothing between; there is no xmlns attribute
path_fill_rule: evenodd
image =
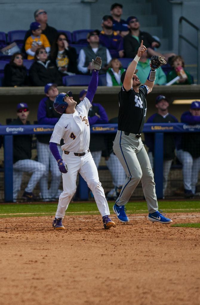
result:
<svg viewBox="0 0 200 305"><path fill-rule="evenodd" d="M147 58L148 53L145 52L139 59L138 65L137 65L137 76L139 78L139 80L141 81L141 84L144 84L148 74L149 74L149 63L150 63L150 59ZM155 74L155 81L154 84L155 85L163 85L166 84L166 75L163 72L162 68L160 67L159 69L157 69L156 74Z"/></svg>

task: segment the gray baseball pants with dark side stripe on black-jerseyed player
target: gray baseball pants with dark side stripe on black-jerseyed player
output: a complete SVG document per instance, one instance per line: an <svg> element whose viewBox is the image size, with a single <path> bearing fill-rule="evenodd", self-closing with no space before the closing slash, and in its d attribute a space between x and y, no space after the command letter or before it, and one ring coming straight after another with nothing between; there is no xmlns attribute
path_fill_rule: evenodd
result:
<svg viewBox="0 0 200 305"><path fill-rule="evenodd" d="M149 213L157 211L153 171L141 138L136 138L135 134L131 133L127 136L118 130L113 142L113 151L127 174L116 204L125 205L141 180Z"/></svg>

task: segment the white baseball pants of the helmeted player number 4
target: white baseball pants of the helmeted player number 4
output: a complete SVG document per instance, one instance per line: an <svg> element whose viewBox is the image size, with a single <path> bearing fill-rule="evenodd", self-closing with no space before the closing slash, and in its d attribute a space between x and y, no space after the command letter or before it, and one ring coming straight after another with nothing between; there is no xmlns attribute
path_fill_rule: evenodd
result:
<svg viewBox="0 0 200 305"><path fill-rule="evenodd" d="M62 154L62 159L67 163L68 172L62 174L63 192L60 194L58 208L55 214L56 218L62 218L65 215L65 211L76 191L77 174L84 178L88 187L91 189L98 210L102 216L109 215L108 203L105 199L104 190L99 182L98 171L95 162L90 152L82 157L75 156L73 152L66 155Z"/></svg>

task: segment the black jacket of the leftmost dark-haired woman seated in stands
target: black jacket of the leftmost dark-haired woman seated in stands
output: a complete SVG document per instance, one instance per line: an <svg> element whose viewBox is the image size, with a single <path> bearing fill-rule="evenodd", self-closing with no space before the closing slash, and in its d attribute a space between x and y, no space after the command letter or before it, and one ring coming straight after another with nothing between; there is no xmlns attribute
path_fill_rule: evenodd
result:
<svg viewBox="0 0 200 305"><path fill-rule="evenodd" d="M4 67L5 87L28 86L29 78L25 66L17 66L15 63L7 63Z"/></svg>

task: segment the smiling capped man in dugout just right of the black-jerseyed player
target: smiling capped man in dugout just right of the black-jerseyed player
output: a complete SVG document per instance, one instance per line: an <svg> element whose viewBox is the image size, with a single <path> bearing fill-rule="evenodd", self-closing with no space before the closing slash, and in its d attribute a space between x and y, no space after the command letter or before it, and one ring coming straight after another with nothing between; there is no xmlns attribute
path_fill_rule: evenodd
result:
<svg viewBox="0 0 200 305"><path fill-rule="evenodd" d="M157 113L154 113L148 118L147 123L178 123L176 117L168 112L169 102L164 95L157 96L155 100L155 107ZM179 138L172 133L164 133L164 147L163 147L163 196L167 187L168 175L172 161L175 157L175 146L178 145ZM148 156L153 168L154 160L154 135L152 133L145 133L145 144L148 147Z"/></svg>

